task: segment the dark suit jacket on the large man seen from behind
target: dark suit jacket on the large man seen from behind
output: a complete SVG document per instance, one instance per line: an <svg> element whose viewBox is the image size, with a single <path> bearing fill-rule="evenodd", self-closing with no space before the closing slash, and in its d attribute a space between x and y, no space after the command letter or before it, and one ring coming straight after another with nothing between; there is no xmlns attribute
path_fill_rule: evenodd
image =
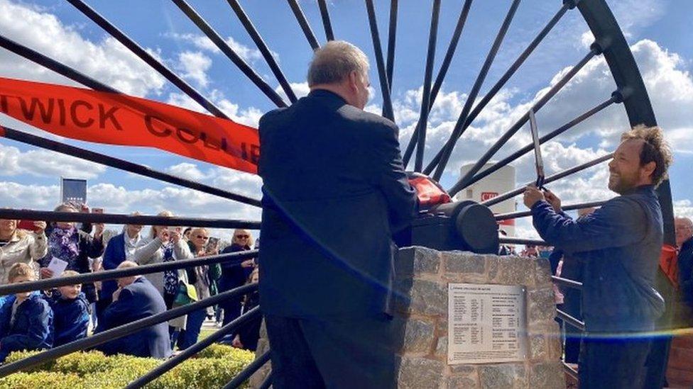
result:
<svg viewBox="0 0 693 389"><path fill-rule="evenodd" d="M390 120L312 91L260 120L263 312L357 316L386 310L393 230L416 196Z"/></svg>

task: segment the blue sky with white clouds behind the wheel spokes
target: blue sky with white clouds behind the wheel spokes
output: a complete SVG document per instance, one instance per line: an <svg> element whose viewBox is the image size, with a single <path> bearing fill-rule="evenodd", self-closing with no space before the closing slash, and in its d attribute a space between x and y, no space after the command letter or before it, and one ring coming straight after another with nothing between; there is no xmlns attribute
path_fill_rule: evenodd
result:
<svg viewBox="0 0 693 389"><path fill-rule="evenodd" d="M638 61L657 120L667 131L667 137L675 148L676 162L670 174L677 212L693 215L692 179L689 174L693 162L693 137L689 135L693 131L693 114L689 108L693 103L693 81L689 74L693 58L689 16L693 12L693 2L607 2L626 33L626 39ZM371 58L370 75L374 93L368 109L378 111L381 94L364 2L332 0L328 3L337 38L358 45ZM427 159L447 140L510 3L509 0L477 0L472 5L457 54L431 114ZM263 112L274 108L271 101L234 64L218 50L214 50L211 43L172 2L92 0L89 4L133 40L154 52L236 120L256 125ZM278 86L226 1L195 0L190 1L190 4L239 50L241 56L268 83ZM288 4L283 0L241 1L241 4L271 50L276 53L287 78L295 83L295 90L305 92L305 72L311 50ZM302 0L300 4L318 40L324 42L324 30L316 1ZM376 1L383 40L387 35L388 4L389 1ZM560 4L561 1L558 0L525 0L520 3L508 35L481 89L481 96L554 15ZM434 74L440 67L461 8L462 1L442 1ZM428 2L400 1L393 100L396 121L401 128L400 140L404 144L408 141L418 115L429 24ZM577 10L569 11L562 18L459 142L448 165L449 170L443 176L444 186L450 186L455 181L457 169L462 164L474 161L514 123L541 96L542 90L555 80L557 74L586 54L587 45L591 42L587 31L586 23ZM119 43L107 38L103 30L65 1L0 0L0 33L129 94L200 109L182 96L175 86L129 55ZM383 46L386 46L384 42ZM5 50L0 51L0 77L73 84L72 81L45 71ZM604 101L613 89L614 84L604 62L599 58L592 60L574 82L538 113L540 131L553 130L596 103ZM5 117L0 117L1 124L41 133ZM543 150L547 170L551 173L566 169L613 150L618 134L626 125L623 106L607 108L577 128L569 130L555 142L545 145ZM41 134L45 136L45 133ZM527 131L520 130L497 157L507 155L529 140ZM259 196L260 181L248 174L153 149L64 141L207 184ZM515 165L518 168L518 182L531 179L533 162L530 157L520 159ZM600 165L571 180L555 184L553 189L564 198L564 203L609 198L613 193L606 189L605 171L606 165ZM58 177L61 173L64 176L88 178L89 202L93 206L103 206L107 211L141 210L155 213L170 208L180 215L258 218L257 210L213 196L65 158L17 142L0 140L0 206L53 208L59 200ZM526 224L520 226L520 232L531 234Z"/></svg>

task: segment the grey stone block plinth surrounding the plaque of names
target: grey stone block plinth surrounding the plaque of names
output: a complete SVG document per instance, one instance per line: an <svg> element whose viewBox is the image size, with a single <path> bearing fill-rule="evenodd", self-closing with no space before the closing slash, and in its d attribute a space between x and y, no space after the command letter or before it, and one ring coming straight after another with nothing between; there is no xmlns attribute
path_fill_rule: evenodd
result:
<svg viewBox="0 0 693 389"><path fill-rule="evenodd" d="M400 249L395 259L398 388L565 388L559 329L546 259ZM523 286L526 289L527 356L508 363L447 364L448 283ZM268 349L261 329L257 356ZM261 384L267 363L251 377Z"/></svg>

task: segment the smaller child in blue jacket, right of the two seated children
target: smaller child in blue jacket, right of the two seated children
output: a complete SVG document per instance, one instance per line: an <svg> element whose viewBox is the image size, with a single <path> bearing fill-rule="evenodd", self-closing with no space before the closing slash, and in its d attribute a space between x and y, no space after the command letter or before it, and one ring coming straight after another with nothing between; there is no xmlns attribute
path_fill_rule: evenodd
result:
<svg viewBox="0 0 693 389"><path fill-rule="evenodd" d="M66 270L63 277L79 276L77 271ZM48 303L53 308L53 346L61 346L87 337L89 303L82 293L82 284L60 286Z"/></svg>

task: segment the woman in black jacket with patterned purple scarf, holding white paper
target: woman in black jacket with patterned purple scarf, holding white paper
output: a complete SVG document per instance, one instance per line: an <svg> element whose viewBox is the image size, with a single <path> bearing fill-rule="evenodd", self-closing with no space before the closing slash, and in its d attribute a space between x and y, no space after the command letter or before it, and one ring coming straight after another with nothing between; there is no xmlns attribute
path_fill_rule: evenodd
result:
<svg viewBox="0 0 693 389"><path fill-rule="evenodd" d="M55 212L79 212L75 206L60 204ZM65 270L74 270L77 273L91 273L89 258L95 259L104 253L102 234L104 224L94 224L94 237L87 232L78 230L74 222L53 222L48 226L45 235L48 237L48 254L40 259L41 278L56 276L48 269L48 264L53 258L67 262ZM58 275L59 276L59 275ZM82 284L82 292L87 296L89 303L97 300L97 291L94 283Z"/></svg>

